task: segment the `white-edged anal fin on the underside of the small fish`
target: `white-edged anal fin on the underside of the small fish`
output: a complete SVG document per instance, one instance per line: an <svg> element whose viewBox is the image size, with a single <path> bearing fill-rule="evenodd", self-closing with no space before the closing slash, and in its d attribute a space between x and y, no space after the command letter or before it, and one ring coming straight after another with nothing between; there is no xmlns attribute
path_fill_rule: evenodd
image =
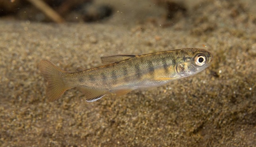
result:
<svg viewBox="0 0 256 147"><path fill-rule="evenodd" d="M106 90L97 90L87 87L78 87L78 89L85 94L87 102L97 101L98 99L101 99L101 97L108 93L108 91Z"/></svg>

